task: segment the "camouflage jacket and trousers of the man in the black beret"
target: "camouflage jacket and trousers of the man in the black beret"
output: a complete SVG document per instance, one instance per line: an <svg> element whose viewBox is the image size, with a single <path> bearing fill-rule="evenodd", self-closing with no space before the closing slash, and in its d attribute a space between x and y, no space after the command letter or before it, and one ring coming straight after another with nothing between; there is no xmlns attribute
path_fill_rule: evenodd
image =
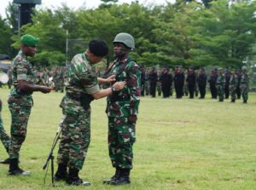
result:
<svg viewBox="0 0 256 190"><path fill-rule="evenodd" d="M64 115L58 164L82 170L90 144L90 106L83 107L82 95L100 90L96 68L85 54L75 55L68 72L66 95L61 101Z"/></svg>

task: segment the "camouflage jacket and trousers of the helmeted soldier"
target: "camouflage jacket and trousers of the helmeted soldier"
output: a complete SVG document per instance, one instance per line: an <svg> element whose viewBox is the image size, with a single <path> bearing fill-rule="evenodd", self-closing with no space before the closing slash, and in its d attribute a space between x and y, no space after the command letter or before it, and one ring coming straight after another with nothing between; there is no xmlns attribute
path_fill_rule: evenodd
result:
<svg viewBox="0 0 256 190"><path fill-rule="evenodd" d="M141 71L129 57L115 60L108 76L116 75L116 81L126 81L126 86L107 99L108 151L113 167L132 168L132 146L136 141L136 124L128 121L129 116L138 114L140 102Z"/></svg>

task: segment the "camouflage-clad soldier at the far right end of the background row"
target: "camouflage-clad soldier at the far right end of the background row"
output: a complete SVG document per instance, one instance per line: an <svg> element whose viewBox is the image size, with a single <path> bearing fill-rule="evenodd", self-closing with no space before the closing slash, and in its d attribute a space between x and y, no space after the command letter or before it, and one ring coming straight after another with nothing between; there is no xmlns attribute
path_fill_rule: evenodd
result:
<svg viewBox="0 0 256 190"><path fill-rule="evenodd" d="M241 67L241 81L240 81L241 97L243 103L247 103L249 92L249 76L247 74L247 66Z"/></svg>

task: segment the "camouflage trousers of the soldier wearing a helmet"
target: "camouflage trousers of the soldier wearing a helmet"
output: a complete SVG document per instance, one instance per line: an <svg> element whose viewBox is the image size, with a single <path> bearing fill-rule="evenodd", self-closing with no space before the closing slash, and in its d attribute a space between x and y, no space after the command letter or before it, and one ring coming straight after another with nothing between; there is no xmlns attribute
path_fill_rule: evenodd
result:
<svg viewBox="0 0 256 190"><path fill-rule="evenodd" d="M113 167L132 169L135 141L136 126L128 118L108 118L108 151Z"/></svg>

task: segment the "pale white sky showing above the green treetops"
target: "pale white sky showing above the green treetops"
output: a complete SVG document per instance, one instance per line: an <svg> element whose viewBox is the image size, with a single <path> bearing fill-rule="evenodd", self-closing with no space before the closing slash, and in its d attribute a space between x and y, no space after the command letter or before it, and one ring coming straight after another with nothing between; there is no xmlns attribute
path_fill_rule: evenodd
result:
<svg viewBox="0 0 256 190"><path fill-rule="evenodd" d="M78 9L79 7L86 7L88 9L97 8L102 2L101 0L41 0L42 4L37 5L37 8L49 8L55 9L61 7L61 3L66 3L68 7L73 9ZM131 3L135 0L119 0L119 3ZM173 2L174 0L139 0L139 3L143 5L157 4L162 5L166 2ZM6 18L5 8L8 6L9 2L13 0L1 0L0 14L3 18Z"/></svg>

